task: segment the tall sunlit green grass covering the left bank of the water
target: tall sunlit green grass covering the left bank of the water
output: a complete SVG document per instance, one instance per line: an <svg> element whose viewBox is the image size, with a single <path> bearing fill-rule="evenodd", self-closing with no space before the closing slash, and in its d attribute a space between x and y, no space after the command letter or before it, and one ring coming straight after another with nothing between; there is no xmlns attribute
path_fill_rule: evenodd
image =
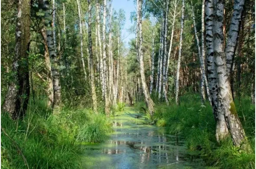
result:
<svg viewBox="0 0 256 169"><path fill-rule="evenodd" d="M52 115L46 102L39 100L29 105L22 120L13 121L1 113L1 128L8 135L1 132L3 169L82 168L81 144L103 142L112 131L105 115L73 107Z"/></svg>

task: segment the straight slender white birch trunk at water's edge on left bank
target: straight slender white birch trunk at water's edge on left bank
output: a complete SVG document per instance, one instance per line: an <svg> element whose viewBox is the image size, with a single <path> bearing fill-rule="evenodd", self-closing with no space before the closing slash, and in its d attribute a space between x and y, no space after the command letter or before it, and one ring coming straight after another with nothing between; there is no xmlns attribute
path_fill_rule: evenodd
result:
<svg viewBox="0 0 256 169"><path fill-rule="evenodd" d="M103 6L103 28L102 28L102 41L103 41L103 76L104 76L104 91L105 91L105 112L110 115L110 102L108 99L107 90L107 43L106 43L106 17L107 17L107 0L104 0Z"/></svg>

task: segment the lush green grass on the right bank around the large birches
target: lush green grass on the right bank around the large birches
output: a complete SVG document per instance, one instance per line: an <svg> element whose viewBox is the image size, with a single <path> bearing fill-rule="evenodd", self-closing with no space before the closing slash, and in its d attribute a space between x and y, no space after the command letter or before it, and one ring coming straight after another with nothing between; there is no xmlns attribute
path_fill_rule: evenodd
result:
<svg viewBox="0 0 256 169"><path fill-rule="evenodd" d="M237 113L243 124L246 136L255 150L255 105L250 98L235 100ZM146 108L139 102L137 108ZM181 134L185 137L189 151L197 152L207 166L217 169L254 169L255 153L248 154L233 146L229 137L222 143L215 138L215 121L211 105L201 105L200 96L186 95L181 97L181 104L157 104L152 121L158 126L166 126L169 134Z"/></svg>

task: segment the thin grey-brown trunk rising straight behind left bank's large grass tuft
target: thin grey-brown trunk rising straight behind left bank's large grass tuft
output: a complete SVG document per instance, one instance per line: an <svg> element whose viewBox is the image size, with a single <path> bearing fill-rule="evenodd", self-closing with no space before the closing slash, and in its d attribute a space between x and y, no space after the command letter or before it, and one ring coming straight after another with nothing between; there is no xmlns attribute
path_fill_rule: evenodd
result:
<svg viewBox="0 0 256 169"><path fill-rule="evenodd" d="M97 113L97 96L94 84L94 63L93 63L93 54L92 54L92 38L91 38L91 0L88 0L88 47L89 47L89 54L90 54L90 75L91 75L91 94L92 94L92 101L93 101L93 109L94 112Z"/></svg>

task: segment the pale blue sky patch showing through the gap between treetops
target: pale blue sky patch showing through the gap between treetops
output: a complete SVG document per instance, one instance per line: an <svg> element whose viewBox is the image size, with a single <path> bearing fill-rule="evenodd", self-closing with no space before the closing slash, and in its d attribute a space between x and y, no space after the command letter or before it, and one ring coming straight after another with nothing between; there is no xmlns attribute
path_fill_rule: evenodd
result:
<svg viewBox="0 0 256 169"><path fill-rule="evenodd" d="M133 4L133 0L113 0L112 6L116 11L123 9L125 12L126 21L122 30L122 39L125 43L125 46L129 47L128 42L130 39L135 38L135 34L131 34L128 31L128 29L133 25L130 21L130 13L136 11L136 6Z"/></svg>

